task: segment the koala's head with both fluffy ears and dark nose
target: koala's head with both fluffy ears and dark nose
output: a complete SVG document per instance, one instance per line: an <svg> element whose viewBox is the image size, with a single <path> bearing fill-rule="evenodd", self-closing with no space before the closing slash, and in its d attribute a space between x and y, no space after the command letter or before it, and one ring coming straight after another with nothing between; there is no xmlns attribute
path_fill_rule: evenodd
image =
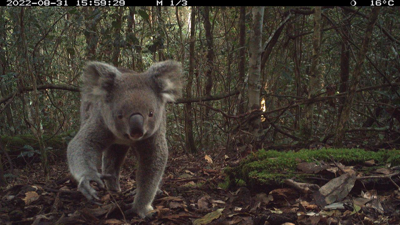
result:
<svg viewBox="0 0 400 225"><path fill-rule="evenodd" d="M82 94L100 100L104 123L116 138L138 141L159 129L165 121L165 104L180 97L182 67L168 60L136 74L90 62L83 83Z"/></svg>

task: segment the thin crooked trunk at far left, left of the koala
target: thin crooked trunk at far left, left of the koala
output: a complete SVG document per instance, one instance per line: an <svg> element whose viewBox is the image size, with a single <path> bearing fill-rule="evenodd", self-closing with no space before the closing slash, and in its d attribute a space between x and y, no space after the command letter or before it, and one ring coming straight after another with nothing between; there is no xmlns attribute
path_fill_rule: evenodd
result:
<svg viewBox="0 0 400 225"><path fill-rule="evenodd" d="M33 73L32 66L30 64L29 56L28 56L28 44L26 42L26 36L25 36L25 24L24 24L24 7L21 8L20 11L20 32L21 32L21 38L22 38L22 54L23 57L25 57L26 60L26 67L28 68L28 74L30 75L30 80L32 83L33 87L33 101L32 105L30 107L34 107L34 117L32 116L31 119L31 130L32 133L36 136L39 142L39 148L41 152L41 164L42 164L42 169L44 170L44 175L46 178L49 178L49 173L50 173L50 167L48 164L48 154L47 150L44 147L44 142L42 138L42 128L41 128L41 121L40 121L40 111L39 111L39 93L38 89L36 88L37 82L36 82L36 76Z"/></svg>

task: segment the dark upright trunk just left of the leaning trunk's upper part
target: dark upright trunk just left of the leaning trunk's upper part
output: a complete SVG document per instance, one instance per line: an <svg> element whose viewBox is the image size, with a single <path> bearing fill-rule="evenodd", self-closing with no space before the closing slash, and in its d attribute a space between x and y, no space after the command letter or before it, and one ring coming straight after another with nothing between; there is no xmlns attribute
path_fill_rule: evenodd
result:
<svg viewBox="0 0 400 225"><path fill-rule="evenodd" d="M345 9L343 10L345 11ZM344 12L344 16L348 16L348 12ZM342 26L342 47L340 49L340 87L339 92L347 91L347 84L349 80L349 71L350 71L350 43L349 43L349 35L350 35L350 21L348 19L343 21L344 24ZM340 108L339 115L342 113L342 107L344 104L344 98L339 98Z"/></svg>

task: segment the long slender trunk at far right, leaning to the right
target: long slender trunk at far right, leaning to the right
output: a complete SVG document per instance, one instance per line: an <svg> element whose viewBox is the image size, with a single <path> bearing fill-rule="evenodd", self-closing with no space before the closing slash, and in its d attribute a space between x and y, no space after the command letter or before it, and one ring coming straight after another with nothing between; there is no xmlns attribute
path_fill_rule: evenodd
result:
<svg viewBox="0 0 400 225"><path fill-rule="evenodd" d="M350 79L350 85L348 87L348 91L344 100L342 113L340 114L338 125L336 126L336 132L333 142L334 146L342 145L345 125L348 121L350 115L350 109L353 105L354 94L356 93L358 84L360 83L362 66L364 64L365 55L371 40L372 31L374 30L376 20L378 19L378 14L379 14L379 7L372 8L368 23L366 24L364 40L362 40L360 51L358 52L357 55L356 66L354 66L354 70L352 72L352 77Z"/></svg>

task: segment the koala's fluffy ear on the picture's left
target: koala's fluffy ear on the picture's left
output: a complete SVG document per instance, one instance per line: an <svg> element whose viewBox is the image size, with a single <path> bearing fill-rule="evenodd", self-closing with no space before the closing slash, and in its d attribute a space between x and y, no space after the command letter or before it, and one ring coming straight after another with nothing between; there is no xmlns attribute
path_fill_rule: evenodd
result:
<svg viewBox="0 0 400 225"><path fill-rule="evenodd" d="M104 62L88 62L82 74L82 93L106 97L114 88L115 78L121 76L117 68Z"/></svg>

